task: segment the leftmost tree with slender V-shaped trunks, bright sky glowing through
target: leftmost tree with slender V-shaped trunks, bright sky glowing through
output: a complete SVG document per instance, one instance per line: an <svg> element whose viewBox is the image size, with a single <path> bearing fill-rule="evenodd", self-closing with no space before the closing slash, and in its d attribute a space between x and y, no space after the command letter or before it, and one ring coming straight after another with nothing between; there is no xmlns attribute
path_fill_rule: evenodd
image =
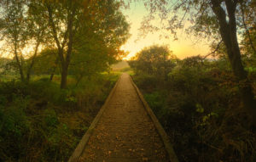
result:
<svg viewBox="0 0 256 162"><path fill-rule="evenodd" d="M47 24L39 3L25 0L1 1L1 34L9 53L14 55L21 81L29 81ZM31 53L26 48L32 47Z"/></svg>

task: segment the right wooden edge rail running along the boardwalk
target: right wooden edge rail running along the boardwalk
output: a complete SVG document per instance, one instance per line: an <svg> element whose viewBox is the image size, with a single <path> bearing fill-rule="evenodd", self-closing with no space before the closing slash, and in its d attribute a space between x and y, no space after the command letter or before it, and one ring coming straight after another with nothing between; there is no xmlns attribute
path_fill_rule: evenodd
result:
<svg viewBox="0 0 256 162"><path fill-rule="evenodd" d="M178 160L177 160L177 155L175 154L175 152L174 152L174 150L173 150L173 148L172 148L172 143L170 142L169 137L168 137L168 135L166 134L166 131L165 131L164 128L160 125L160 122L159 122L159 120L156 118L156 116L154 115L153 110L150 109L148 103L146 102L146 100L145 100L144 97L143 97L143 94L140 92L140 90L138 89L138 87L136 86L136 84L134 83L134 81L132 80L131 75L129 75L129 76L130 76L130 80L131 80L132 86L135 87L138 97L139 97L139 98L141 99L141 101L143 102L144 108L146 109L146 111L147 111L148 115L150 116L151 120L153 121L156 130L157 130L158 133L160 134L160 138L161 138L162 141L164 142L164 145L165 145L167 154L169 155L169 160L170 160L171 162L178 162Z"/></svg>

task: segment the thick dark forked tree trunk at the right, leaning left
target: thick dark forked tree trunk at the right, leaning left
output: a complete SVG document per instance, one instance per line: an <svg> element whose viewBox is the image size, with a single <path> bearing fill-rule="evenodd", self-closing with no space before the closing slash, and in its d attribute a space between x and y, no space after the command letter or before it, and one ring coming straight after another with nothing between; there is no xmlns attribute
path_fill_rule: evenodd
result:
<svg viewBox="0 0 256 162"><path fill-rule="evenodd" d="M233 70L236 80L239 83L241 100L249 115L253 117L253 124L256 124L256 101L253 98L253 91L250 82L247 80L247 72L244 70L241 62L240 48L236 36L236 1L226 0L226 8L229 16L229 21L226 20L224 8L221 7L218 1L212 0L212 10L216 14L219 22L219 31L227 49L230 60L230 65Z"/></svg>

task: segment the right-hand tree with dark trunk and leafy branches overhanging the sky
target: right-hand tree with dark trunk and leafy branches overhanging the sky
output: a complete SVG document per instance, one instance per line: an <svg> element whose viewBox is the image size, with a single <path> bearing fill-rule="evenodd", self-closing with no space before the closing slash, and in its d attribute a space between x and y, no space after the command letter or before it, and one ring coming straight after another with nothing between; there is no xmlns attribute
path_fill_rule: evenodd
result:
<svg viewBox="0 0 256 162"><path fill-rule="evenodd" d="M157 1L148 0L145 3L149 14L142 23L143 34L161 29L170 31L175 35L178 29L185 28L189 36L194 34L196 38L208 38L213 47L217 47L213 53L220 51L229 59L236 83L246 82L247 72L244 70L241 53L247 53L247 64L255 55L255 5L253 1ZM160 23L155 19L160 18ZM189 21L189 25L188 22ZM148 30L149 29L149 30ZM236 29L236 30L233 30ZM245 49L241 51L241 44L237 35L244 37ZM216 46L216 42L218 45ZM223 42L223 43L222 43ZM218 48L220 47L220 50ZM211 55L210 53L209 55ZM222 56L223 57L223 56ZM254 61L252 61L254 62ZM239 86L243 108L252 116L256 123L256 100L253 95L253 86L250 81Z"/></svg>

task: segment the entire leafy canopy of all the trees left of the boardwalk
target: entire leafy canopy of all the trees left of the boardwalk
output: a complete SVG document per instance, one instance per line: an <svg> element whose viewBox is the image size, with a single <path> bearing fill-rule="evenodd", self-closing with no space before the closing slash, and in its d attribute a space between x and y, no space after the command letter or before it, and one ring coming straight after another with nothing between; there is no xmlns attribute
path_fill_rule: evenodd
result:
<svg viewBox="0 0 256 162"><path fill-rule="evenodd" d="M0 4L1 34L21 81L30 80L42 49L57 50L48 57L55 64L44 67L53 66L49 69L54 75L60 64L61 88L67 87L70 64L73 74L86 75L90 69L108 69L125 55L119 47L130 36L129 24L117 1L3 0Z"/></svg>

